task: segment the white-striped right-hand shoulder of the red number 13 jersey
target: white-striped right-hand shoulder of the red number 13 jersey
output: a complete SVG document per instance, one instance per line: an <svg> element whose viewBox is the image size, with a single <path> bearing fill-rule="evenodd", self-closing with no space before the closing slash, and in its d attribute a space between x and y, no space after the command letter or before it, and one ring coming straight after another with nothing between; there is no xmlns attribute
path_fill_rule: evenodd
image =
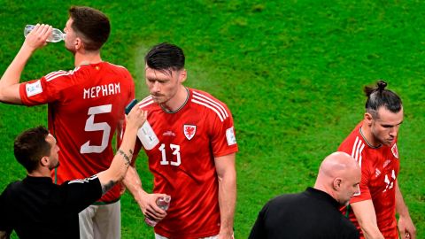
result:
<svg viewBox="0 0 425 239"><path fill-rule="evenodd" d="M228 119L228 117L231 115L230 111L228 110L228 106L214 96L198 89L189 90L192 94L190 99L191 103L197 104L199 107L205 108L209 112L216 114L220 118L220 121Z"/></svg>

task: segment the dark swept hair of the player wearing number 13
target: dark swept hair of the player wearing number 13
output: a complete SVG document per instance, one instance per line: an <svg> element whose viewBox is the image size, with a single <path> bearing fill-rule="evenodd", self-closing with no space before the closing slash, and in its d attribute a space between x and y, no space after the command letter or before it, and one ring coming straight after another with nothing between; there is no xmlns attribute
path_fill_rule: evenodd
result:
<svg viewBox="0 0 425 239"><path fill-rule="evenodd" d="M184 68L183 50L167 42L160 43L146 54L144 61L149 68L162 72L179 71Z"/></svg>

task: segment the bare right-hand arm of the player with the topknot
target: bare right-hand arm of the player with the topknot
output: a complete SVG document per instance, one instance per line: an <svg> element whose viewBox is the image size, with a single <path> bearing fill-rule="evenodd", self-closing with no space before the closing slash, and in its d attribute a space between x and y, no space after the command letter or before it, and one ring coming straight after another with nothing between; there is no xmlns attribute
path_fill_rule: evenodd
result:
<svg viewBox="0 0 425 239"><path fill-rule="evenodd" d="M409 210L403 199L400 188L398 187L398 180L396 180L396 211L398 212L398 231L401 239L415 239L416 227L410 218Z"/></svg>

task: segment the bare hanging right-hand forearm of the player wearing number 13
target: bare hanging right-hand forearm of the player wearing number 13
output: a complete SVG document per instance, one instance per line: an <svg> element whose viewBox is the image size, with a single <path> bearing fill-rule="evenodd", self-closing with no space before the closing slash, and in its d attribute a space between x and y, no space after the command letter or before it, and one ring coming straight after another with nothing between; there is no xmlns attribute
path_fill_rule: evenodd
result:
<svg viewBox="0 0 425 239"><path fill-rule="evenodd" d="M236 207L236 170L219 175L220 234L233 235Z"/></svg>

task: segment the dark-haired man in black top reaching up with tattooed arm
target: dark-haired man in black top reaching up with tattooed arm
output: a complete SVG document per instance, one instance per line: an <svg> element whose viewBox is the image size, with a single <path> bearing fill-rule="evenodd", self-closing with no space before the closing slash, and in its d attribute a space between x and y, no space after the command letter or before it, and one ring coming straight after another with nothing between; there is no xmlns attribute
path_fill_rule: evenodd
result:
<svg viewBox="0 0 425 239"><path fill-rule="evenodd" d="M0 239L15 230L19 238L80 238L78 213L124 178L135 137L146 120L140 108L128 114L127 130L111 166L89 178L54 184L50 171L59 166L58 145L45 127L28 129L14 143L15 158L27 169L0 196Z"/></svg>

